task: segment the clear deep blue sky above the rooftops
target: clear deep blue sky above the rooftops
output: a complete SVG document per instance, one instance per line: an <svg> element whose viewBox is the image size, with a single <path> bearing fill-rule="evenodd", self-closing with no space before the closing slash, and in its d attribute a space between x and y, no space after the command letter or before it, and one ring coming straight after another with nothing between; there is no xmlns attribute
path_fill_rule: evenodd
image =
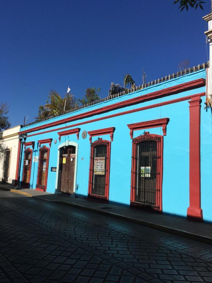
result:
<svg viewBox="0 0 212 283"><path fill-rule="evenodd" d="M206 2L180 12L173 0L1 0L0 100L12 126L34 121L51 89L81 98L100 86L105 97L126 73L140 85L142 68L151 81L184 58L206 62Z"/></svg>

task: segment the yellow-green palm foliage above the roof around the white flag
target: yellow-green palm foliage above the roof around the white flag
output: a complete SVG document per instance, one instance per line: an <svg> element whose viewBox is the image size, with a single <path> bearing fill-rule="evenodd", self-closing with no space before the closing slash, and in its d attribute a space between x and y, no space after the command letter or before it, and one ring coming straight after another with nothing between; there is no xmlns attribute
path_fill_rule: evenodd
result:
<svg viewBox="0 0 212 283"><path fill-rule="evenodd" d="M39 106L38 117L35 119L44 119L49 115L59 114L64 111L64 106L65 111L67 111L79 105L72 93L66 93L62 98L58 92L52 90L48 98L49 100L46 100L45 105Z"/></svg>

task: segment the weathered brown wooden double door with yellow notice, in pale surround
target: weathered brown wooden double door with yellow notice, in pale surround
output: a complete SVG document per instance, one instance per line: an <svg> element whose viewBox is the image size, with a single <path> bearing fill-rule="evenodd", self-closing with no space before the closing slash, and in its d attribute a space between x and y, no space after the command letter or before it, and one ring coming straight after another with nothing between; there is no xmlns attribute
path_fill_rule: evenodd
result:
<svg viewBox="0 0 212 283"><path fill-rule="evenodd" d="M60 191L65 194L73 194L74 171L75 171L76 147L67 146L60 149L61 171Z"/></svg>

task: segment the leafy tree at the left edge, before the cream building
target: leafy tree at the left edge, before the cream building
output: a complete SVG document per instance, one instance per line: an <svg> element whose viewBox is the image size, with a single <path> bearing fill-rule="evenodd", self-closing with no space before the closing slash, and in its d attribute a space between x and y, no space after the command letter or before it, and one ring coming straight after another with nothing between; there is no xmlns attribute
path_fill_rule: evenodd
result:
<svg viewBox="0 0 212 283"><path fill-rule="evenodd" d="M8 121L8 107L6 103L0 103L0 159L3 156L4 152L5 152L5 146L3 144L3 130L7 130L11 124Z"/></svg>

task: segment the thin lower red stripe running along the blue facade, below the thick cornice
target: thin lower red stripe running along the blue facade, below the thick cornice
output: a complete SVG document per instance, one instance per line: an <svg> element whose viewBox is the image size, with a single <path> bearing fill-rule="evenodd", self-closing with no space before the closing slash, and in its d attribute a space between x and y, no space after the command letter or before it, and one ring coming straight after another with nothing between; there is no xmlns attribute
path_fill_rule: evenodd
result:
<svg viewBox="0 0 212 283"><path fill-rule="evenodd" d="M189 100L192 97L197 97L197 96L198 97L199 96L205 96L205 92L201 92L201 93L194 94L194 95L188 95L188 96L185 96L185 97L180 97L180 98L177 98L177 99L172 99L172 100L165 101L165 102L162 102L162 103L156 103L156 104L132 109L132 110L128 110L128 111L124 111L124 112L120 112L120 113L116 113L116 114L112 114L112 115L108 115L108 116L104 116L104 117L100 117L100 118L96 118L96 119L92 119L92 120L88 120L88 121L84 121L84 122L80 122L80 123L77 123L77 124L65 126L65 127L60 127L60 128L57 128L57 129L38 132L38 133L35 133L35 134L32 134L32 135L28 135L28 137L46 134L46 133L50 133L50 132L54 132L54 131L58 131L58 130L68 129L68 128L76 127L76 126L79 126L79 125L84 125L84 124L88 124L88 123L91 123L91 122L101 121L101 120L104 120L104 119L109 119L109 118L113 118L113 117L117 117L117 116L121 116L121 115L125 115L125 114L139 112L139 111L143 111L143 110L147 110L147 109L151 109L151 108L155 108L155 107L160 107L160 106L164 106L164 105L168 105L168 104L172 104L172 103L177 103L177 102Z"/></svg>

